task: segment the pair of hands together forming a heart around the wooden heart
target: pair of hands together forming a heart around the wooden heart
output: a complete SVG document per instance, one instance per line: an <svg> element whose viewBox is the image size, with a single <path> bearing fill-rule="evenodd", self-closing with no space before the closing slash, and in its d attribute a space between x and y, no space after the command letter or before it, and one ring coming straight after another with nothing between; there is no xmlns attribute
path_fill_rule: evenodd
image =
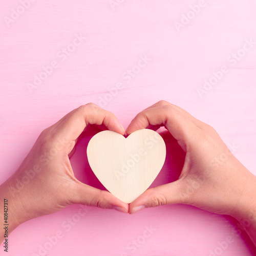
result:
<svg viewBox="0 0 256 256"><path fill-rule="evenodd" d="M75 178L69 158L90 125L125 134L116 116L94 103L80 106L42 131L16 173L0 187L1 200L9 199L9 230L71 204L133 214L145 207L183 203L241 220L255 203L255 176L232 155L218 133L166 101L140 112L126 134L164 126L186 153L179 179L147 189L130 205L109 191L83 184Z"/></svg>

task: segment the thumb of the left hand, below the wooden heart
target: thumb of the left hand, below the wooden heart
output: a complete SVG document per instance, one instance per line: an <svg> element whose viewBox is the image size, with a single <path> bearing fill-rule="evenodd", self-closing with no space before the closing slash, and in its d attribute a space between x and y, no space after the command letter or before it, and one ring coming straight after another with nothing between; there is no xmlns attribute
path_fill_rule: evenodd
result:
<svg viewBox="0 0 256 256"><path fill-rule="evenodd" d="M76 183L70 203L96 206L103 209L115 209L125 213L129 211L129 205L113 196L109 191L100 190L80 181Z"/></svg>

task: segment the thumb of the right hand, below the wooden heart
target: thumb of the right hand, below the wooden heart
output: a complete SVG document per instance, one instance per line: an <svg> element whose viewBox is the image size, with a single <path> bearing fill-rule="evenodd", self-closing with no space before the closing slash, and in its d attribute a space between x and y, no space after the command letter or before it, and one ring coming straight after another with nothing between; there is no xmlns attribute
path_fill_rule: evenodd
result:
<svg viewBox="0 0 256 256"><path fill-rule="evenodd" d="M183 203L179 180L147 189L129 205L129 214L148 207L177 203Z"/></svg>

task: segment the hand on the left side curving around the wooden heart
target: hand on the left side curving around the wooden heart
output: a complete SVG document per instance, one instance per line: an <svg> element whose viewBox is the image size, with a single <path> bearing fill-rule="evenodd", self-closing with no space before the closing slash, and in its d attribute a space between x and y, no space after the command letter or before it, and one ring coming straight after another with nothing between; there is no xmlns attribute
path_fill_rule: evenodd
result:
<svg viewBox="0 0 256 256"><path fill-rule="evenodd" d="M69 158L90 124L125 133L114 114L94 103L80 106L42 131L16 173L0 186L1 205L4 198L9 201L11 230L20 223L71 204L128 212L128 204L108 191L81 183L74 176Z"/></svg>

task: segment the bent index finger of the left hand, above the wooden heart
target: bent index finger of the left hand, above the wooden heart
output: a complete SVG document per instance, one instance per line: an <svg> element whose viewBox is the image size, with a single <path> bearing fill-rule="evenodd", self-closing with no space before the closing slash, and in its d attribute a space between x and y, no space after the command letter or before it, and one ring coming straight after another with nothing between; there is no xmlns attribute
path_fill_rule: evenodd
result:
<svg viewBox="0 0 256 256"><path fill-rule="evenodd" d="M82 105L57 126L53 136L58 140L65 138L65 143L73 143L88 124L103 124L111 131L125 134L125 130L113 113L95 106Z"/></svg>

